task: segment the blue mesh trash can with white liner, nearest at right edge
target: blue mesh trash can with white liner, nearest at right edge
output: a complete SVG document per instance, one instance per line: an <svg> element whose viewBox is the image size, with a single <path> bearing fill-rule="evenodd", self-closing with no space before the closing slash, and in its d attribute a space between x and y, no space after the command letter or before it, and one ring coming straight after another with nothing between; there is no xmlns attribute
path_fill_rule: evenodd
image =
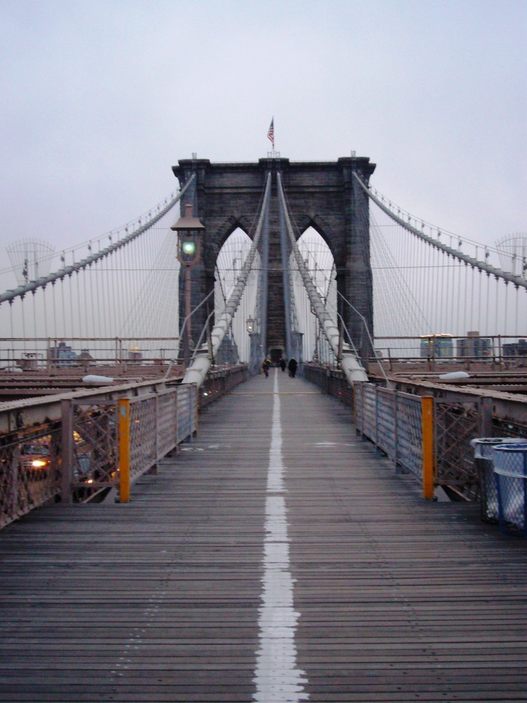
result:
<svg viewBox="0 0 527 703"><path fill-rule="evenodd" d="M527 444L493 447L500 531L527 537Z"/></svg>

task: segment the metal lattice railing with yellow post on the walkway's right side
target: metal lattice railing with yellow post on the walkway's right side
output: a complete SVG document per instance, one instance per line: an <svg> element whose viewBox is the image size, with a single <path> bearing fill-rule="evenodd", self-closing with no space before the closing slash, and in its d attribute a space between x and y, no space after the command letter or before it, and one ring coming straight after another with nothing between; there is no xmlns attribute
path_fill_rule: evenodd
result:
<svg viewBox="0 0 527 703"><path fill-rule="evenodd" d="M371 383L350 387L334 366L304 364L304 375L353 408L357 432L386 454L397 471L408 471L423 483L431 497L433 484L451 497L480 499L481 486L474 465L475 437L527 437L521 396L486 396L481 389L435 388L412 382L418 394L395 391ZM423 434L424 433L424 434Z"/></svg>

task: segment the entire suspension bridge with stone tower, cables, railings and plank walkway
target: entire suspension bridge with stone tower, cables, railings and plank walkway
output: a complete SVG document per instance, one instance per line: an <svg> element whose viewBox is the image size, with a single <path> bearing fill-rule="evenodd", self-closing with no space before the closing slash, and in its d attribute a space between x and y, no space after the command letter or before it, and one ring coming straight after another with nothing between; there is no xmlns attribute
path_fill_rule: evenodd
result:
<svg viewBox="0 0 527 703"><path fill-rule="evenodd" d="M474 442L525 456L523 244L354 153L172 170L0 271L0 700L526 700L527 472Z"/></svg>

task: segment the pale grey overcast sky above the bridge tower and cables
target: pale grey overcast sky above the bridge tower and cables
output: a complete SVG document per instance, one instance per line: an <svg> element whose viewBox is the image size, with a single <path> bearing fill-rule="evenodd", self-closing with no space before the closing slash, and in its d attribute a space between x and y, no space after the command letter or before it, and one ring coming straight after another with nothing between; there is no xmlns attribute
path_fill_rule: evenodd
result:
<svg viewBox="0 0 527 703"><path fill-rule="evenodd" d="M355 150L397 205L527 232L526 0L0 0L5 245L97 239L178 159Z"/></svg>

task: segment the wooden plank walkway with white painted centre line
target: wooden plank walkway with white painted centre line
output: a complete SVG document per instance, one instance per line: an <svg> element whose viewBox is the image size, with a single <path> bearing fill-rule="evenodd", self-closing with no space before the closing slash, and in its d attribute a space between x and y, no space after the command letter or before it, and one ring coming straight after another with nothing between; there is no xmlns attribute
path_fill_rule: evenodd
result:
<svg viewBox="0 0 527 703"><path fill-rule="evenodd" d="M278 410L277 410L278 407ZM0 701L527 701L527 542L280 370L131 503L0 532Z"/></svg>

